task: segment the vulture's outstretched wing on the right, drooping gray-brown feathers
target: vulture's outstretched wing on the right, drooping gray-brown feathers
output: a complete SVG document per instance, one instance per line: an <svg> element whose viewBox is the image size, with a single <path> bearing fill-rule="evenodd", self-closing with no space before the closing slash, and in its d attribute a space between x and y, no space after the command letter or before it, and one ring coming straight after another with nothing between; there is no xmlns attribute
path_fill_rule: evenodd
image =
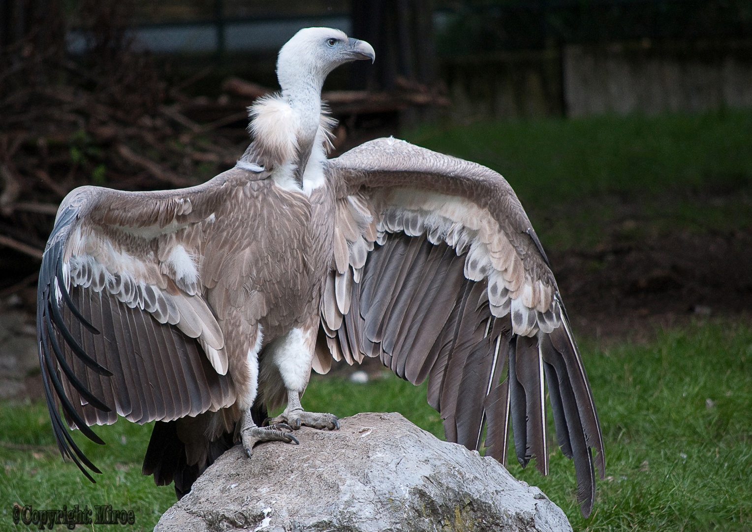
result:
<svg viewBox="0 0 752 532"><path fill-rule="evenodd" d="M468 161L381 138L329 160L338 186L320 338L336 360L380 357L428 378L450 441L548 470L545 388L587 515L603 444L590 385L543 248L509 184ZM320 342L323 343L323 342ZM314 369L330 357L317 351ZM545 383L545 384L544 384ZM591 449L596 450L593 458Z"/></svg>

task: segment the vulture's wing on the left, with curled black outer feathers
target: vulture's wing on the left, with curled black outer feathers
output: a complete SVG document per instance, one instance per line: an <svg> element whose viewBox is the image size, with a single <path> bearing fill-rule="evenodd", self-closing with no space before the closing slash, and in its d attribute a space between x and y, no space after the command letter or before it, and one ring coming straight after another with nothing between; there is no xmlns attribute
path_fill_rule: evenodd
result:
<svg viewBox="0 0 752 532"><path fill-rule="evenodd" d="M223 331L202 295L202 258L228 191L247 188L250 173L161 192L82 187L60 206L38 284L39 359L60 451L89 479L82 462L99 470L60 409L68 426L103 443L89 425L117 415L170 421L235 403Z"/></svg>

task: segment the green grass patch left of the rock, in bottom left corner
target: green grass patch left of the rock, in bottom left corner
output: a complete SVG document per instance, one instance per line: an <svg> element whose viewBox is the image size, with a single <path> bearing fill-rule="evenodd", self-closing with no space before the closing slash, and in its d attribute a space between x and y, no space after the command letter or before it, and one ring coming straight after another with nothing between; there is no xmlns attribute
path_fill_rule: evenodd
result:
<svg viewBox="0 0 752 532"><path fill-rule="evenodd" d="M35 509L62 509L79 504L111 504L135 512L132 530L151 530L159 516L177 500L172 486L156 487L152 477L141 475L151 424L141 427L120 420L108 427L96 427L108 445L96 445L81 437L74 439L103 474L89 482L72 462L63 462L55 445L47 406L36 403L0 403L0 530L23 530L11 521L13 503L32 504ZM28 448L25 448L28 447ZM62 530L62 527L61 527ZM94 530L77 527L77 530ZM102 530L102 527L97 527Z"/></svg>

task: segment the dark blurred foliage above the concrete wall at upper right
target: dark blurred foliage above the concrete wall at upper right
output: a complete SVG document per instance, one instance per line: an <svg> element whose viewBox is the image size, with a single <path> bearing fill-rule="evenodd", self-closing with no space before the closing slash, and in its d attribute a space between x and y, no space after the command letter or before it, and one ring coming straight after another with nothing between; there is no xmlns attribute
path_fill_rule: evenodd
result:
<svg viewBox="0 0 752 532"><path fill-rule="evenodd" d="M559 43L752 37L749 0L443 0L441 55Z"/></svg>

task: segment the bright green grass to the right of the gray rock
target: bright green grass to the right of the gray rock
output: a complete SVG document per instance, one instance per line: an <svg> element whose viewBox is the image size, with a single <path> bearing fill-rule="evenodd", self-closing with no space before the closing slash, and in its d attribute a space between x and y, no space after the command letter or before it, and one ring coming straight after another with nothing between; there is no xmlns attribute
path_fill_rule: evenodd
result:
<svg viewBox="0 0 752 532"><path fill-rule="evenodd" d="M752 530L752 328L714 321L649 345L583 347L606 445L593 515L579 515L558 451L545 479L511 472L575 530Z"/></svg>

